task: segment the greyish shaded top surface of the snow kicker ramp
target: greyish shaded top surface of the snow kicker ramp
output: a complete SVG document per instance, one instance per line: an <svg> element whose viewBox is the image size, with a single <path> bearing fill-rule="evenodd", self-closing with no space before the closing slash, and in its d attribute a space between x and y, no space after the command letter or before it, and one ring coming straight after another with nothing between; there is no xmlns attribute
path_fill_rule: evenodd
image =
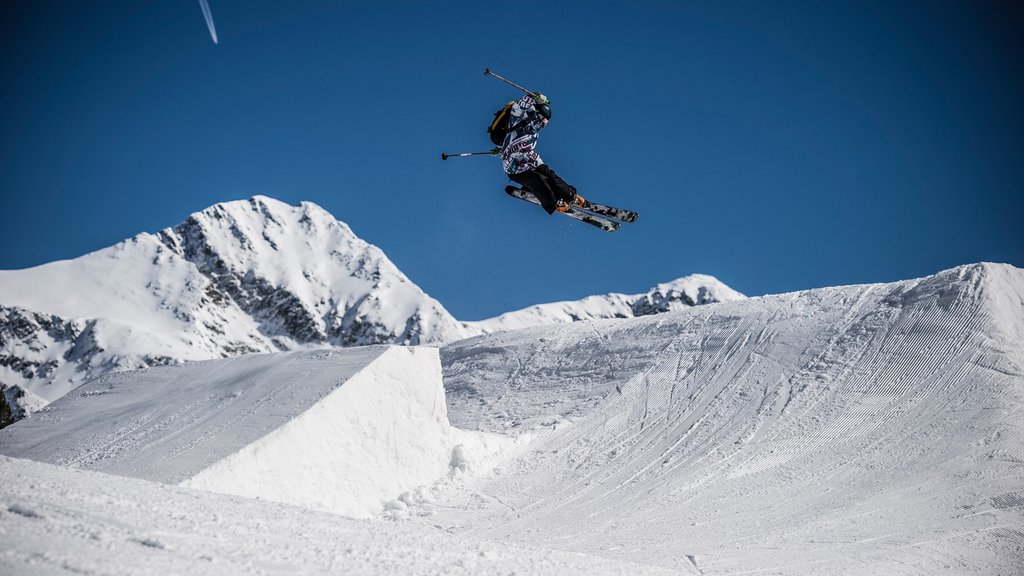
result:
<svg viewBox="0 0 1024 576"><path fill-rule="evenodd" d="M386 348L118 372L0 431L6 454L179 483L301 416Z"/></svg>

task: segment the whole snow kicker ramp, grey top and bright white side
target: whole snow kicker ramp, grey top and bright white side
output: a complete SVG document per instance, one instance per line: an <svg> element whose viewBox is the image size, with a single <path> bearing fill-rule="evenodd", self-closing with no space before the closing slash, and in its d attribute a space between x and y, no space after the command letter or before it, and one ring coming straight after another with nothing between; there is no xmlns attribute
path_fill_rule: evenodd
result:
<svg viewBox="0 0 1024 576"><path fill-rule="evenodd" d="M0 453L367 517L449 471L436 348L121 372L0 431Z"/></svg>

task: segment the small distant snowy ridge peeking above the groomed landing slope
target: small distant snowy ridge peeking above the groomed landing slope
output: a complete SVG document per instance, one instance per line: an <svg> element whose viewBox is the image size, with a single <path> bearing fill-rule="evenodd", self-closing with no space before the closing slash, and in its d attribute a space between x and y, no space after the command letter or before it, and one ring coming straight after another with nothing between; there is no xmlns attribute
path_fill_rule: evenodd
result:
<svg viewBox="0 0 1024 576"><path fill-rule="evenodd" d="M466 326L472 332L486 334L582 320L649 316L743 297L718 279L696 274L658 284L644 294L612 293L538 304L479 322L467 322Z"/></svg>

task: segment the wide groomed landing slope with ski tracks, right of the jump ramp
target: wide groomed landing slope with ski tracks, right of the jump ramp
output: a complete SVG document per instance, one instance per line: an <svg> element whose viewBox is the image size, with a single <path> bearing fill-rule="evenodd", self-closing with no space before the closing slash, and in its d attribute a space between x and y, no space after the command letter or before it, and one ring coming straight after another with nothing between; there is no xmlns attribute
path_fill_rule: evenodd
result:
<svg viewBox="0 0 1024 576"><path fill-rule="evenodd" d="M450 530L469 516L693 574L1024 573L1019 269L498 333L441 360L455 425L547 430L451 496L432 521Z"/></svg>

